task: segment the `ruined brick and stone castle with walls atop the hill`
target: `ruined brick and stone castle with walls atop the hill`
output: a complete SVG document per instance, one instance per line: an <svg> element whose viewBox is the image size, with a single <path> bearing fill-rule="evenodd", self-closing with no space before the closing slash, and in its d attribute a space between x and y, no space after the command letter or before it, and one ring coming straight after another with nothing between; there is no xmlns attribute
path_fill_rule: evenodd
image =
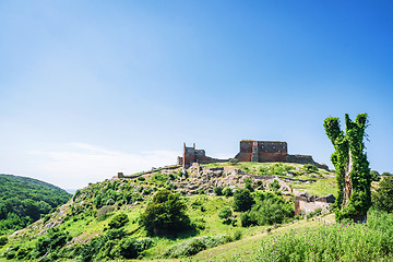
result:
<svg viewBox="0 0 393 262"><path fill-rule="evenodd" d="M329 170L324 164L319 164L312 159L310 155L289 155L286 142L278 141L240 141L240 152L235 156L239 162L285 162L297 164L312 164L319 168ZM192 166L193 163L210 164L228 162L229 159L217 159L206 156L204 150L196 150L195 143L192 147L186 146L183 143L183 154L178 156L177 164L183 168Z"/></svg>

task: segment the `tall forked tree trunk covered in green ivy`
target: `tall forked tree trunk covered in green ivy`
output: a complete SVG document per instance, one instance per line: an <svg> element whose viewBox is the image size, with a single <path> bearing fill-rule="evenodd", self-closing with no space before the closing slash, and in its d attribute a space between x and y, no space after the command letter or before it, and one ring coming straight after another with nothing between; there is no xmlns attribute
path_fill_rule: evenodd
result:
<svg viewBox="0 0 393 262"><path fill-rule="evenodd" d="M371 206L371 175L364 143L367 114L359 114L355 121L346 114L345 133L338 118L326 118L323 126L335 148L331 160L336 169L338 187L334 204L336 219L365 223Z"/></svg>

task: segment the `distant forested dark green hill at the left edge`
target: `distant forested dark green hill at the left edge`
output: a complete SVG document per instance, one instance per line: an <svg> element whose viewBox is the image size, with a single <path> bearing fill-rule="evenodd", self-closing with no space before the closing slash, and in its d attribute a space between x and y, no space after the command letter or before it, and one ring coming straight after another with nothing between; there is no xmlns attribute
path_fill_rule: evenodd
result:
<svg viewBox="0 0 393 262"><path fill-rule="evenodd" d="M25 227L70 198L53 184L0 174L0 235Z"/></svg>

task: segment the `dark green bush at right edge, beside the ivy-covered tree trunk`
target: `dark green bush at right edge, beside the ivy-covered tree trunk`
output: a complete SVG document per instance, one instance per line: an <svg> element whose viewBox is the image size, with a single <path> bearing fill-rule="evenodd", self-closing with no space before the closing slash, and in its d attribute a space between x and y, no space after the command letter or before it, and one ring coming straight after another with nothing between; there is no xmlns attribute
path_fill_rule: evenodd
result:
<svg viewBox="0 0 393 262"><path fill-rule="evenodd" d="M393 177L384 177L372 194L372 204L380 211L393 213Z"/></svg>

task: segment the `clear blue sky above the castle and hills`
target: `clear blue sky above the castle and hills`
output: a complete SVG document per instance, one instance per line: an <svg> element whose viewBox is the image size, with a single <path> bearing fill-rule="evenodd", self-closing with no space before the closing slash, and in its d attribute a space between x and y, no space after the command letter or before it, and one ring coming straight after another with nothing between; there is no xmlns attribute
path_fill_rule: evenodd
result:
<svg viewBox="0 0 393 262"><path fill-rule="evenodd" d="M286 141L332 167L329 116L393 155L390 1L1 1L0 172L80 188Z"/></svg>

